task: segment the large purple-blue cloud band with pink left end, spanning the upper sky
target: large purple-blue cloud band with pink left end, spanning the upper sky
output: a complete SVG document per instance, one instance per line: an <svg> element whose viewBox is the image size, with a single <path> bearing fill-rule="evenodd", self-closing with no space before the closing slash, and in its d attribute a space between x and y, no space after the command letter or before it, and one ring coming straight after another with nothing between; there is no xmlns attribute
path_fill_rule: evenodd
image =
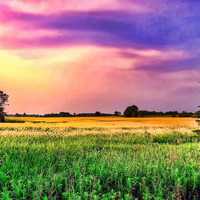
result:
<svg viewBox="0 0 200 200"><path fill-rule="evenodd" d="M200 37L200 16L174 17L123 10L63 11L55 13L24 12L2 7L0 21L13 27L19 35L2 36L6 48L9 40L17 48L57 47L62 45L94 44L100 46L162 49L179 47ZM39 37L34 32L56 31L59 34ZM21 36L28 32L28 36ZM16 42L15 42L16 41ZM184 47L183 47L184 48Z"/></svg>

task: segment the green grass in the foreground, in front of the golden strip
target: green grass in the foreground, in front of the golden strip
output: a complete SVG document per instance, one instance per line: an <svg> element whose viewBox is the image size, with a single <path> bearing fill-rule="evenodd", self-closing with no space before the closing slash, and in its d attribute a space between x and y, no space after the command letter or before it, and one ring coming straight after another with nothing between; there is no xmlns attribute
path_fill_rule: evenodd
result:
<svg viewBox="0 0 200 200"><path fill-rule="evenodd" d="M0 199L200 199L199 141L128 130L0 137Z"/></svg>

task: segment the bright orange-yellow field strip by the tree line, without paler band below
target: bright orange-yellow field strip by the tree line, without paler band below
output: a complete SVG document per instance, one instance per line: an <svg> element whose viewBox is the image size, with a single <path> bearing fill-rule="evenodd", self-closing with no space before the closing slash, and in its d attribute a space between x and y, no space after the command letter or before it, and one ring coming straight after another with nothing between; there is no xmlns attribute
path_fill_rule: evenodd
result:
<svg viewBox="0 0 200 200"><path fill-rule="evenodd" d="M139 128L139 127L163 127L163 128L195 128L195 118L176 117L152 117L152 118L125 118L125 117L7 117L8 122L0 124L7 126L48 126L48 127L76 127L76 128ZM23 122L23 123L20 123Z"/></svg>

